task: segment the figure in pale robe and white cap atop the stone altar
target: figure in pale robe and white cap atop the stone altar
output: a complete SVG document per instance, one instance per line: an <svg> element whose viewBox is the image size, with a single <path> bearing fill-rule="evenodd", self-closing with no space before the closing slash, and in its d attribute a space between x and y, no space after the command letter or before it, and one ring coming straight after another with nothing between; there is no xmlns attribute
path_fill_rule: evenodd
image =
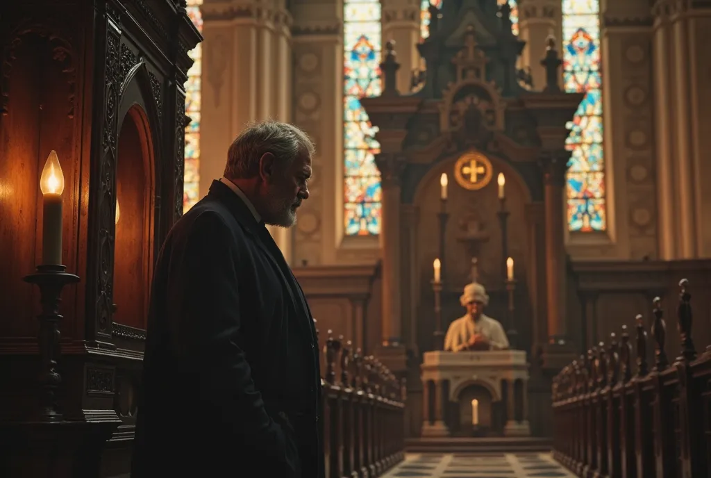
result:
<svg viewBox="0 0 711 478"><path fill-rule="evenodd" d="M466 307L466 315L449 326L444 337L444 350L503 350L508 349L508 339L497 321L483 314L488 295L481 284L468 284L459 302Z"/></svg>

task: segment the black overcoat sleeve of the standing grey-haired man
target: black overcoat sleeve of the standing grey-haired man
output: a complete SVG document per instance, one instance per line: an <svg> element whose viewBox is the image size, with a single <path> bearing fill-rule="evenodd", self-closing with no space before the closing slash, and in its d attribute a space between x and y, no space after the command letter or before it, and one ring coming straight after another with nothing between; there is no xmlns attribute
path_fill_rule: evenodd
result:
<svg viewBox="0 0 711 478"><path fill-rule="evenodd" d="M183 253L179 260L183 270L173 277L188 283L176 288L186 297L176 301L182 310L172 314L181 317L172 345L181 366L196 379L201 415L221 420L220 428L233 434L240 454L249 456L251 451L253 457L271 461L262 472L273 467L280 477L298 473L294 443L267 414L238 346L245 340L240 336L241 322L252 318L240 317L240 250L235 235L217 213L206 211L188 232Z"/></svg>

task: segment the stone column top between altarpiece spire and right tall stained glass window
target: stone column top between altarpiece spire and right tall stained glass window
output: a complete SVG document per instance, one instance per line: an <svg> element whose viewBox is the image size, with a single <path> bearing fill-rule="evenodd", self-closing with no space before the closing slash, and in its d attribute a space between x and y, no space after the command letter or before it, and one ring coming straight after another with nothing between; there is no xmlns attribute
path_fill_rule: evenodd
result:
<svg viewBox="0 0 711 478"><path fill-rule="evenodd" d="M545 69L539 68L540 59L545 58L546 39L554 36L557 45L560 38L560 1L525 0L518 6L519 33L526 47L521 53L521 67L529 67L533 76L533 89L545 87Z"/></svg>

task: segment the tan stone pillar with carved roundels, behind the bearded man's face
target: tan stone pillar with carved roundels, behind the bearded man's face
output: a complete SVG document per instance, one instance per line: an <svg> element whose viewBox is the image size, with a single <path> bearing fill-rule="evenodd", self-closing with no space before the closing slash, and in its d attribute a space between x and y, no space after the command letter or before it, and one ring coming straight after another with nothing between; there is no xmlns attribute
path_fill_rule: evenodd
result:
<svg viewBox="0 0 711 478"><path fill-rule="evenodd" d="M343 6L336 0L292 0L290 9L292 120L316 141L311 197L299 208L292 262L333 264L343 239Z"/></svg>

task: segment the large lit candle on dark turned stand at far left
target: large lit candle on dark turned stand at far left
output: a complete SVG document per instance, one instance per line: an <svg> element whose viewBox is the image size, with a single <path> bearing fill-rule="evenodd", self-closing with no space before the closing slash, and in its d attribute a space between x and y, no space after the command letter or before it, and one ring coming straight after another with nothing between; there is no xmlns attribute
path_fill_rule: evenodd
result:
<svg viewBox="0 0 711 478"><path fill-rule="evenodd" d="M57 152L50 152L40 176L43 195L42 209L42 264L62 263L62 193L64 174Z"/></svg>

